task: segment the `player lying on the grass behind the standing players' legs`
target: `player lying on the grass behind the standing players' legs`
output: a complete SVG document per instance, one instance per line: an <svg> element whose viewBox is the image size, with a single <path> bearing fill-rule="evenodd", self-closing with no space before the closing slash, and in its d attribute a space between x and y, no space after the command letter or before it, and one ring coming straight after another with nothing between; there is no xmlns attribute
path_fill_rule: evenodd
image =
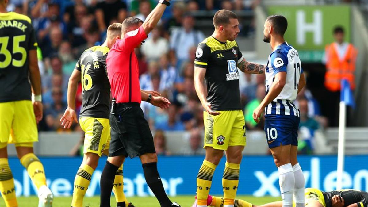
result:
<svg viewBox="0 0 368 207"><path fill-rule="evenodd" d="M306 188L304 200L307 207L365 207L368 205L368 193L353 189L323 192L316 188ZM213 207L223 206L223 202L223 198L215 196L208 196L207 199L207 205ZM234 207L282 207L282 201L255 206L247 201L235 199Z"/></svg>

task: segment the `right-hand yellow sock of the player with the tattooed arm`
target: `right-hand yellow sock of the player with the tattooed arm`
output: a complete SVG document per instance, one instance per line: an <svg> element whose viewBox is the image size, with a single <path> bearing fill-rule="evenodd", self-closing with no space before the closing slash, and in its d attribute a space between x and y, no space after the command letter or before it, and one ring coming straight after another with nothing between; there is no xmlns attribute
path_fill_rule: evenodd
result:
<svg viewBox="0 0 368 207"><path fill-rule="evenodd" d="M239 183L240 164L226 162L224 175L222 176L222 188L224 191L224 207L233 207L236 191Z"/></svg>

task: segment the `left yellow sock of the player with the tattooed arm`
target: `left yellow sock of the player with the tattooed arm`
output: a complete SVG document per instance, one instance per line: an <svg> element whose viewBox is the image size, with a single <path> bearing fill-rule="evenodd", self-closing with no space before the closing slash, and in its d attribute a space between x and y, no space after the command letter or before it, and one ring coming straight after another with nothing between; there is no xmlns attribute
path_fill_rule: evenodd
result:
<svg viewBox="0 0 368 207"><path fill-rule="evenodd" d="M204 160L197 175L197 206L207 206L207 196L212 184L213 173L216 169L215 164Z"/></svg>

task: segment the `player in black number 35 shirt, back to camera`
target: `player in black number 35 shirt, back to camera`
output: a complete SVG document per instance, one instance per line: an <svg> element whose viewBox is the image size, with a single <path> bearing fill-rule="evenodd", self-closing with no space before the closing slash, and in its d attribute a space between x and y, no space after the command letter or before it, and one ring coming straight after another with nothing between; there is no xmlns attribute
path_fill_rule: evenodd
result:
<svg viewBox="0 0 368 207"><path fill-rule="evenodd" d="M35 31L27 16L7 12L7 3L0 0L0 192L7 207L18 206L7 154L7 144L15 143L18 158L38 189L38 206L52 206L45 170L33 154L36 122L42 119Z"/></svg>

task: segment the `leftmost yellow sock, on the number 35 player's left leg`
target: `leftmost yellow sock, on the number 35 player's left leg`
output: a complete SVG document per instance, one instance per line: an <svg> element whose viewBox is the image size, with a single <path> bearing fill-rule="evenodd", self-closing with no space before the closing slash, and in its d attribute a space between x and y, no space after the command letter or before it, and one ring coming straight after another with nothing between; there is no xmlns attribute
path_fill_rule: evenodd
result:
<svg viewBox="0 0 368 207"><path fill-rule="evenodd" d="M7 158L0 158L0 192L6 207L18 206L17 198L15 197L14 178Z"/></svg>

